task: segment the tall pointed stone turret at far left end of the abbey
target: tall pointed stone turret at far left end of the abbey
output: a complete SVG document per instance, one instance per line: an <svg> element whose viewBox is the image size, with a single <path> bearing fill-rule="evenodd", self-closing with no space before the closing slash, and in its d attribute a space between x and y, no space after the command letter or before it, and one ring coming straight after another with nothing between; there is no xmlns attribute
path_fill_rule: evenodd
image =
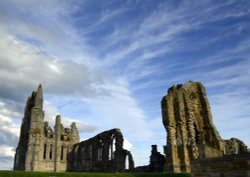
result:
<svg viewBox="0 0 250 177"><path fill-rule="evenodd" d="M27 99L22 119L20 139L16 149L15 170L37 170L42 151L41 141L44 133L43 122L43 96L42 86L39 85L37 92L32 92Z"/></svg>

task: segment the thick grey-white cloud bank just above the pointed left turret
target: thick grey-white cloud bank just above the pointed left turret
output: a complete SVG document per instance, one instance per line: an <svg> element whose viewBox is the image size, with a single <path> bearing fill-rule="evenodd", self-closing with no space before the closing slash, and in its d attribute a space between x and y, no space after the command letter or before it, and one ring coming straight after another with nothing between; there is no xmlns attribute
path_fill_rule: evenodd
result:
<svg viewBox="0 0 250 177"><path fill-rule="evenodd" d="M12 92L16 95L18 91L28 93L38 83L45 85L50 93L83 96L104 94L105 91L92 87L102 81L103 76L98 75L100 70L92 75L83 64L53 58L5 32L0 32L0 36L0 49L3 51L0 54L0 94Z"/></svg>

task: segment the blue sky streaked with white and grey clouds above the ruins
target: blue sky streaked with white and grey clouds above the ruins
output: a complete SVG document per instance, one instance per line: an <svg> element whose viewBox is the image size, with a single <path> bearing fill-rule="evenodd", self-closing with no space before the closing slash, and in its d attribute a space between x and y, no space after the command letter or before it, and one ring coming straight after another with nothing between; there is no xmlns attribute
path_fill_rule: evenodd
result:
<svg viewBox="0 0 250 177"><path fill-rule="evenodd" d="M12 169L27 97L81 140L120 128L135 165L163 153L161 99L206 87L223 139L250 146L250 1L1 0L0 169Z"/></svg>

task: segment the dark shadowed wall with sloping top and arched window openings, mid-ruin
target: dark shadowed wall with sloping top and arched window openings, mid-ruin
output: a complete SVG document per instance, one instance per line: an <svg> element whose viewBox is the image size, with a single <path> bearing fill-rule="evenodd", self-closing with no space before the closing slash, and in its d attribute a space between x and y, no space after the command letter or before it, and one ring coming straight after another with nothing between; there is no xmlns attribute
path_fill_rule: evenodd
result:
<svg viewBox="0 0 250 177"><path fill-rule="evenodd" d="M134 169L129 151L123 149L123 135L119 129L102 132L75 144L69 153L68 171L124 172Z"/></svg>

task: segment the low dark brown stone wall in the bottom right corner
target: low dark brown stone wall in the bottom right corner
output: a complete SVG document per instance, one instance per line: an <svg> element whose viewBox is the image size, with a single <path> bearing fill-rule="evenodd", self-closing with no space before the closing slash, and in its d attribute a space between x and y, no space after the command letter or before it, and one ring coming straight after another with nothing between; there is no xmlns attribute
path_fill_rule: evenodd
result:
<svg viewBox="0 0 250 177"><path fill-rule="evenodd" d="M191 161L192 177L250 177L250 154Z"/></svg>

